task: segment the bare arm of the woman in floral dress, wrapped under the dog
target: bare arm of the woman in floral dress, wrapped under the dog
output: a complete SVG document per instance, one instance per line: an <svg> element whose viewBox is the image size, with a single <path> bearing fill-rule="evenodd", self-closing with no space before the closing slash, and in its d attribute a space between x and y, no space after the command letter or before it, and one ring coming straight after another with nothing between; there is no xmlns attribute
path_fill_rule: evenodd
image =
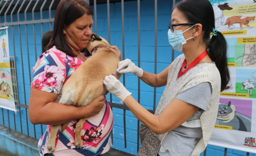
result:
<svg viewBox="0 0 256 156"><path fill-rule="evenodd" d="M31 88L28 113L32 124L58 125L93 116L101 111L105 100L101 95L87 106L75 107L55 103L56 98L57 94Z"/></svg>

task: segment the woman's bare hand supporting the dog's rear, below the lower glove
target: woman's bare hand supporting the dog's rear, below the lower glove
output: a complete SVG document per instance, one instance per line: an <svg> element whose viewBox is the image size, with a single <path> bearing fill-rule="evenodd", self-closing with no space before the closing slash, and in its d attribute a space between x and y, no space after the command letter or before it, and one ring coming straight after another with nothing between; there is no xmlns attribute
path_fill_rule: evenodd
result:
<svg viewBox="0 0 256 156"><path fill-rule="evenodd" d="M92 100L88 105L86 105L85 109L88 109L88 116L97 115L100 113L101 109L105 104L105 96L101 95L98 98Z"/></svg>

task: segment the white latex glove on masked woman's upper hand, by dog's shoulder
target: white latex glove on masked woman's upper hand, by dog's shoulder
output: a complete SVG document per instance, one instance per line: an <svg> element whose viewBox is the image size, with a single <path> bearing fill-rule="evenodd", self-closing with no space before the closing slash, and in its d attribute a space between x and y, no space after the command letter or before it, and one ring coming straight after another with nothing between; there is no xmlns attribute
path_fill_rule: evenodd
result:
<svg viewBox="0 0 256 156"><path fill-rule="evenodd" d="M117 71L127 66L126 69L119 71L119 73L133 73L137 77L141 77L143 75L143 70L141 68L138 68L138 66L131 62L130 59L125 59L123 61L118 62L117 66Z"/></svg>

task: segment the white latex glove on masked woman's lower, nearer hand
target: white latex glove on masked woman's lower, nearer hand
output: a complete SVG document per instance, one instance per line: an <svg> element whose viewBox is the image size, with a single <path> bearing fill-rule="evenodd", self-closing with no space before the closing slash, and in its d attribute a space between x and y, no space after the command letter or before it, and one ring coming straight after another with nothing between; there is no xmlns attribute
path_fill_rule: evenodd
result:
<svg viewBox="0 0 256 156"><path fill-rule="evenodd" d="M104 85L106 86L107 90L117 96L117 98L122 103L123 100L129 95L131 95L131 92L127 91L125 86L113 75L108 75L104 78L103 81Z"/></svg>

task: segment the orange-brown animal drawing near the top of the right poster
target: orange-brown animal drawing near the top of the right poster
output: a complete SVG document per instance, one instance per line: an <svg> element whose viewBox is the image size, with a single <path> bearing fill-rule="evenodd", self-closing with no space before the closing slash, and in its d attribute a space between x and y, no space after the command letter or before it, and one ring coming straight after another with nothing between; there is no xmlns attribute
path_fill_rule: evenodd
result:
<svg viewBox="0 0 256 156"><path fill-rule="evenodd" d="M255 20L255 16L254 17L231 16L230 18L226 19L226 23L224 25L228 24L229 29L233 29L233 28L230 28L230 26L233 26L234 23L240 23L240 29L243 29L242 28L243 25L247 26L248 28L251 28L249 26L249 22L253 22L254 20Z"/></svg>

